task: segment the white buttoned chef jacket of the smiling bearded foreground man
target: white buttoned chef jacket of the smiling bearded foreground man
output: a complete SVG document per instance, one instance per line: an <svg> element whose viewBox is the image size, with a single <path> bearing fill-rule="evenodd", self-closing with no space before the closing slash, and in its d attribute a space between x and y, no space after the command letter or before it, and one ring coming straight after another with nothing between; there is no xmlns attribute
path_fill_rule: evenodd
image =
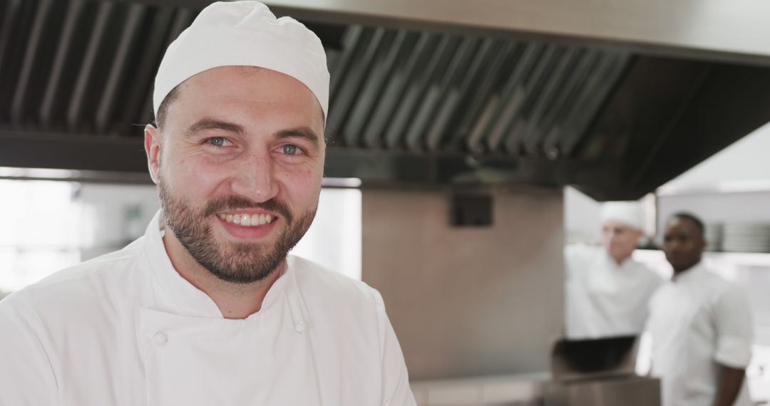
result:
<svg viewBox="0 0 770 406"><path fill-rule="evenodd" d="M2 406L413 405L380 294L290 256L243 320L172 267L159 215L0 302Z"/></svg>

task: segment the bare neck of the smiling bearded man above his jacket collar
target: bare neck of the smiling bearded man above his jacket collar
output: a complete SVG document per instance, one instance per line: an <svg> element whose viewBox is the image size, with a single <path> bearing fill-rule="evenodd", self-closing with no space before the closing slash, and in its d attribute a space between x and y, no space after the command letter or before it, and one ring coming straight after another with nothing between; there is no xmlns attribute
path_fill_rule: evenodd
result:
<svg viewBox="0 0 770 406"><path fill-rule="evenodd" d="M223 281L203 268L170 231L163 236L163 245L177 273L211 298L224 318L247 318L262 308L267 291L286 270L286 260L267 278L248 284Z"/></svg>

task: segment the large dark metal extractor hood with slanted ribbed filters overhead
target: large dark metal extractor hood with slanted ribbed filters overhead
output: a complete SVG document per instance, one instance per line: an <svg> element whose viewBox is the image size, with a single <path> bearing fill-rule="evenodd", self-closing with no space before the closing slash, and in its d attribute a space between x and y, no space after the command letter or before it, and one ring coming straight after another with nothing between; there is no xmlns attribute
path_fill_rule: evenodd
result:
<svg viewBox="0 0 770 406"><path fill-rule="evenodd" d="M146 171L152 79L207 3L0 0L0 166ZM364 186L638 198L770 121L763 2L270 3L322 38L326 175Z"/></svg>

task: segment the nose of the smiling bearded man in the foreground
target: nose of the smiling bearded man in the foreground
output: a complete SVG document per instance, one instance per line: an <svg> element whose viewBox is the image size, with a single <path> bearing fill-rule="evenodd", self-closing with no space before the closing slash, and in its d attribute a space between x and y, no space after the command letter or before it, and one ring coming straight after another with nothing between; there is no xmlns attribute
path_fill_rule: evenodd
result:
<svg viewBox="0 0 770 406"><path fill-rule="evenodd" d="M230 187L237 195L261 203L278 194L275 175L275 164L269 152L249 152L233 165Z"/></svg>

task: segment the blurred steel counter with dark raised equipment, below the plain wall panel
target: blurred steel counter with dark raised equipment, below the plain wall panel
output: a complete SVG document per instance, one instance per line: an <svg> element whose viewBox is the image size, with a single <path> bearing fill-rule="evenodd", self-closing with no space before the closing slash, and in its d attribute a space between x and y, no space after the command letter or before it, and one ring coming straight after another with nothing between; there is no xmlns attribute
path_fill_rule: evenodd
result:
<svg viewBox="0 0 770 406"><path fill-rule="evenodd" d="M413 382L420 406L659 406L661 382L634 374L635 336L559 340L551 372Z"/></svg>

